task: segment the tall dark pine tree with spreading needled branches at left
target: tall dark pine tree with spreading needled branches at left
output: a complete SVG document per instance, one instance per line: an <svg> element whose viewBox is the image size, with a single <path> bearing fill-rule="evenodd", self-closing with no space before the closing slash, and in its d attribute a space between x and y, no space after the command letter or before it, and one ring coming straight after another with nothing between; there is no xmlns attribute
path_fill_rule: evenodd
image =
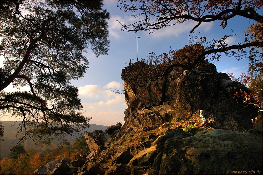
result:
<svg viewBox="0 0 263 175"><path fill-rule="evenodd" d="M1 112L22 121L19 142L48 144L89 127L72 79L83 76L91 48L108 54L109 13L102 1L1 1ZM8 85L29 91L5 91Z"/></svg>

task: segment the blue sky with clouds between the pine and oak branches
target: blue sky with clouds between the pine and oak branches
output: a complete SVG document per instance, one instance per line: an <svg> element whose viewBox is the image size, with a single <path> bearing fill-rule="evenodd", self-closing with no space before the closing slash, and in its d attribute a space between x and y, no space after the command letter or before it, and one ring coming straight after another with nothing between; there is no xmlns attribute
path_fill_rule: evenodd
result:
<svg viewBox="0 0 263 175"><path fill-rule="evenodd" d="M110 12L109 22L109 54L102 55L97 58L91 50L84 55L89 60L89 68L84 77L79 80L72 81L74 86L79 89L79 97L82 99L84 107L84 116L93 117L90 123L97 125L110 126L117 122L124 123L124 111L127 105L124 101L124 95L114 94L112 89L123 89L123 81L120 78L122 69L127 67L130 59L136 59L136 39L138 39L138 58L147 59L149 52L155 52L156 55L168 53L170 47L175 50L181 49L184 45L189 44L188 36L191 29L196 25L195 22L176 26L169 26L159 29L151 34L145 32L122 32L121 26L116 21L129 24L134 22L132 16L127 16L123 10L117 7L118 1L104 1L103 8ZM207 39L222 38L225 35L232 34L229 38L229 44L244 41L244 29L249 26L249 20L236 17L230 19L227 27L222 29L220 22L210 22L201 24L194 33L205 36ZM2 61L1 61L2 62ZM211 62L213 63L213 62ZM219 62L213 63L217 67L218 72L232 72L236 76L241 72L246 72L249 60L242 59L237 61L235 58L229 58L222 55ZM13 91L12 87L8 87ZM15 121L12 117L1 116L2 121Z"/></svg>

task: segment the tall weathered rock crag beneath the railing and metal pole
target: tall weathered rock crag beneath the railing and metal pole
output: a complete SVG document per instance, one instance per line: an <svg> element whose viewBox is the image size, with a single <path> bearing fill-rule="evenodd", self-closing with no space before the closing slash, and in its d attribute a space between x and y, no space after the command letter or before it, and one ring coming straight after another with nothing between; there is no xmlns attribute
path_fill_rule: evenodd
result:
<svg viewBox="0 0 263 175"><path fill-rule="evenodd" d="M172 118L201 123L199 110L214 126L252 129L251 119L258 115L258 109L231 99L240 89L251 91L227 74L218 73L214 64L203 60L192 69L174 67L160 77L147 73L158 74L158 69L157 65L136 62L122 70L128 106L122 130L156 127Z"/></svg>

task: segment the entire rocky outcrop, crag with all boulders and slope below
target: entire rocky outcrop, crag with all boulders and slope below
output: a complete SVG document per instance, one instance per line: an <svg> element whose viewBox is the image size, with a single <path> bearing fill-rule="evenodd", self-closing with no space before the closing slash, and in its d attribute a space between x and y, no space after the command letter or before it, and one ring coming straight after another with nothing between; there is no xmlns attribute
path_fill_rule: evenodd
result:
<svg viewBox="0 0 263 175"><path fill-rule="evenodd" d="M35 174L262 174L262 112L234 97L251 91L205 59L182 66L191 62L123 69L124 125L85 132L91 153Z"/></svg>

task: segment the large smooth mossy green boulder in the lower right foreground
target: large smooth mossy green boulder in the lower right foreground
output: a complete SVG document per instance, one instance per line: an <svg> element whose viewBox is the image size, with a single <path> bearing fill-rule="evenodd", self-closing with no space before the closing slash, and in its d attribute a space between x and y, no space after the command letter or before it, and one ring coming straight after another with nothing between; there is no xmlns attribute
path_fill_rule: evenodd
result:
<svg viewBox="0 0 263 175"><path fill-rule="evenodd" d="M256 135L214 129L185 138L165 135L158 142L158 174L237 174L251 168L262 172L262 137Z"/></svg>

